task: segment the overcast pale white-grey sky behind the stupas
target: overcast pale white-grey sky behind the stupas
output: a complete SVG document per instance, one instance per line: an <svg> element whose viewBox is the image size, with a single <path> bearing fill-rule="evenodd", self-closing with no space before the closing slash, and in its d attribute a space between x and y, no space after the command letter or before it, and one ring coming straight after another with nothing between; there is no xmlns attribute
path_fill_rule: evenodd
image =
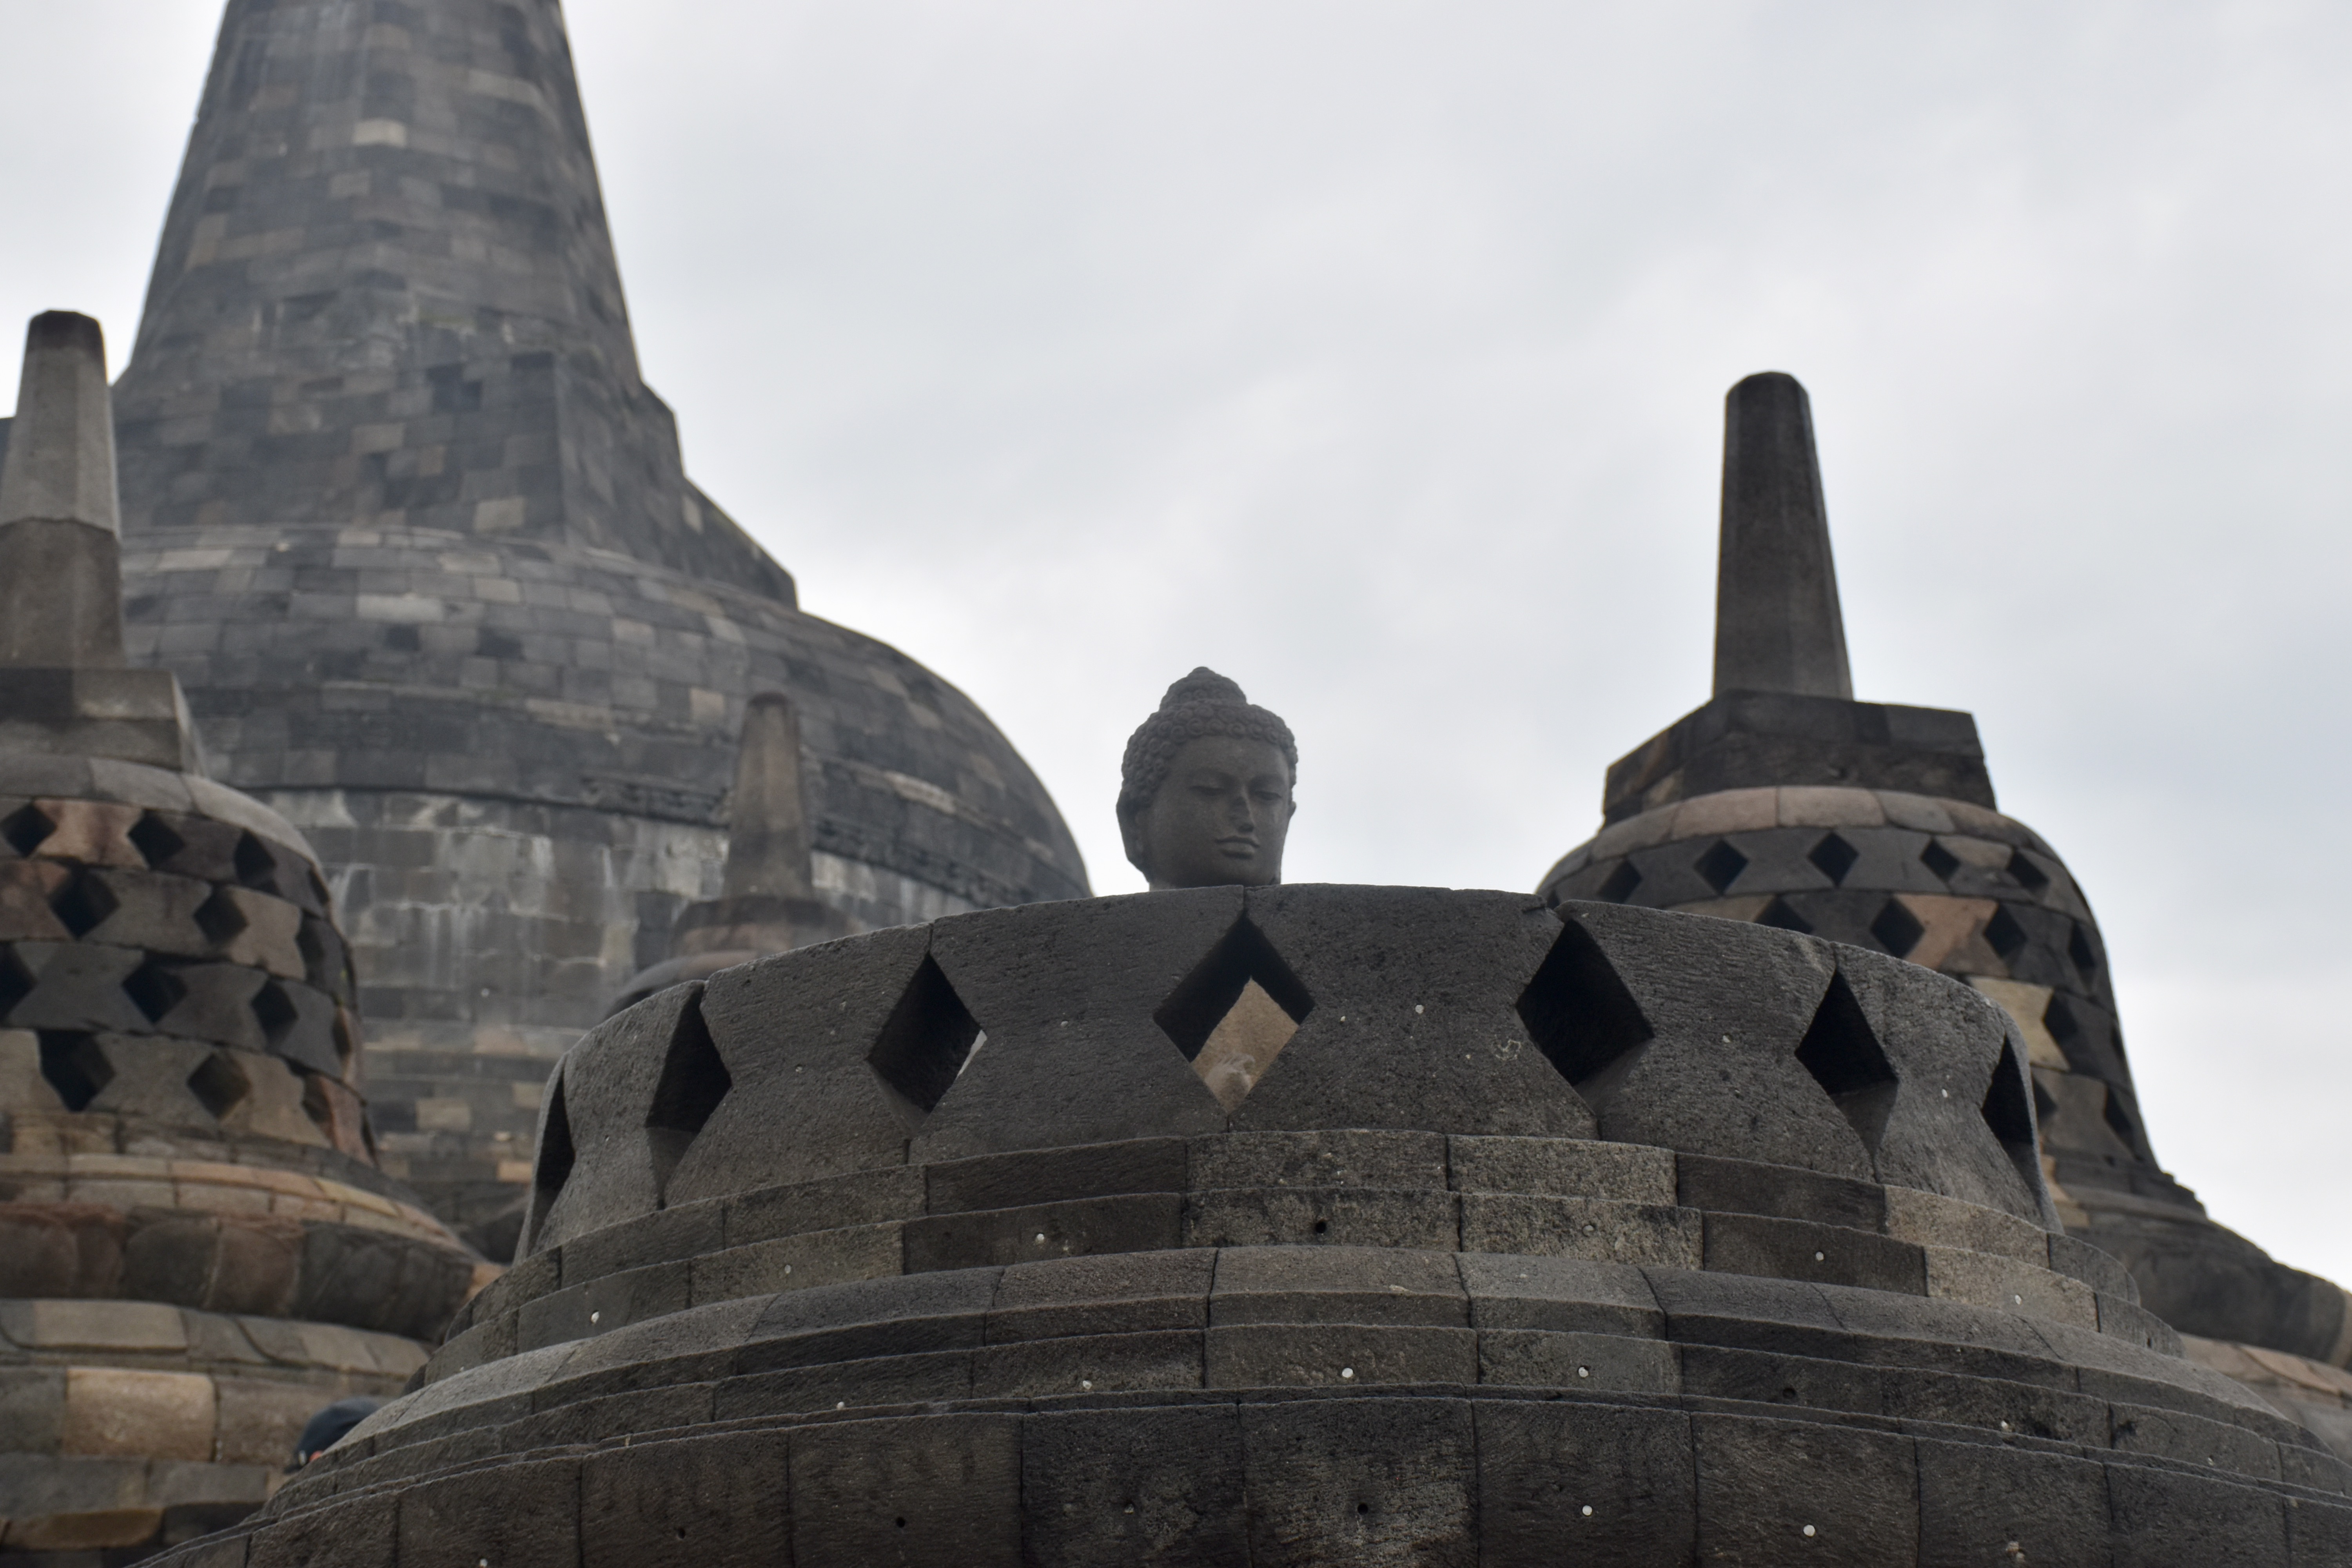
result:
<svg viewBox="0 0 2352 1568"><path fill-rule="evenodd" d="M1722 393L1865 698L1978 715L2159 1157L2352 1281L2352 9L574 0L647 378L1096 891L1195 663L1294 879L1531 886L1705 696ZM0 322L129 343L207 0L0 0Z"/></svg>

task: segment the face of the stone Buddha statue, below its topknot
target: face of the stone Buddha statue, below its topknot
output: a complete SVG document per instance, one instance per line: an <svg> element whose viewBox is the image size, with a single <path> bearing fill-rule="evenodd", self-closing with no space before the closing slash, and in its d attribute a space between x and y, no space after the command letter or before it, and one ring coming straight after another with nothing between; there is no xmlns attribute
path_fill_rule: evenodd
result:
<svg viewBox="0 0 2352 1568"><path fill-rule="evenodd" d="M1160 795L1122 823L1127 858L1152 889L1272 886L1294 809L1291 764L1270 743L1185 741Z"/></svg>

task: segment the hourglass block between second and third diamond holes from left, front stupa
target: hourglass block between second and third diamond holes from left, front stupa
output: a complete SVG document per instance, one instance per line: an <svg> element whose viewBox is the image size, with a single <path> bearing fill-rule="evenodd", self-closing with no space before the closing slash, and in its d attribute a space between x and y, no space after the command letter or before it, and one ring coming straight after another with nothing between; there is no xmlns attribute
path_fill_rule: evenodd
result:
<svg viewBox="0 0 2352 1568"><path fill-rule="evenodd" d="M908 1117L868 1053L927 964L929 943L927 926L903 926L713 976L703 1023L734 1086L677 1161L673 1194L720 1197L903 1164Z"/></svg>

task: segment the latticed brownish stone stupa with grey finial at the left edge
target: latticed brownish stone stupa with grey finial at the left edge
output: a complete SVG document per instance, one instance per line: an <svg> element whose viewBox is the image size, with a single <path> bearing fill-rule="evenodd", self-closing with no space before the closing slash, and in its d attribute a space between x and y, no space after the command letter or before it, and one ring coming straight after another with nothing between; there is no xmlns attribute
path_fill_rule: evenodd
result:
<svg viewBox="0 0 2352 1568"><path fill-rule="evenodd" d="M122 663L99 324L33 320L0 463L0 1563L268 1497L492 1272L376 1168L343 938L282 816Z"/></svg>

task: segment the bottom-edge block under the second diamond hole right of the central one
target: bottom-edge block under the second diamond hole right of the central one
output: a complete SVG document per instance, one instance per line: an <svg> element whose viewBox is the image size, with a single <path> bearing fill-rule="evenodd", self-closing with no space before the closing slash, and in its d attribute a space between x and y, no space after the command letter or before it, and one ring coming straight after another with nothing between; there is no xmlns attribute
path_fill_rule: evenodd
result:
<svg viewBox="0 0 2352 1568"><path fill-rule="evenodd" d="M1693 1415L1700 1561L1884 1568L1919 1559L1912 1439Z"/></svg>

